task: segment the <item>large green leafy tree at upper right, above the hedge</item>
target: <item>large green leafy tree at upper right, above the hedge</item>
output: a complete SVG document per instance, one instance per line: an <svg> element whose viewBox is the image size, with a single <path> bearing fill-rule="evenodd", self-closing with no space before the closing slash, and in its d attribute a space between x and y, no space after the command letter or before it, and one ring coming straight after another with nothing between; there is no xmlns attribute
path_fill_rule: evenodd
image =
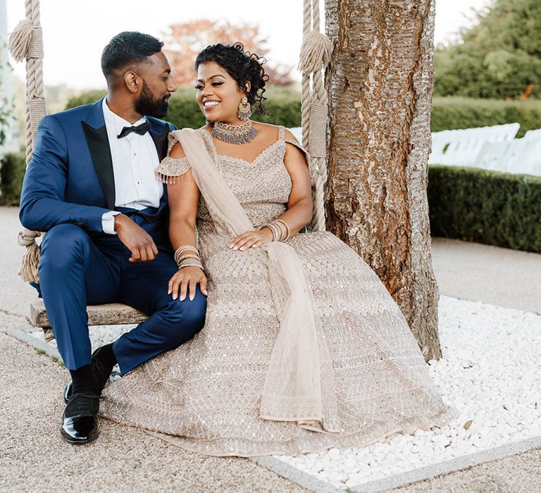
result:
<svg viewBox="0 0 541 493"><path fill-rule="evenodd" d="M495 0L435 52L434 94L541 99L541 2Z"/></svg>

